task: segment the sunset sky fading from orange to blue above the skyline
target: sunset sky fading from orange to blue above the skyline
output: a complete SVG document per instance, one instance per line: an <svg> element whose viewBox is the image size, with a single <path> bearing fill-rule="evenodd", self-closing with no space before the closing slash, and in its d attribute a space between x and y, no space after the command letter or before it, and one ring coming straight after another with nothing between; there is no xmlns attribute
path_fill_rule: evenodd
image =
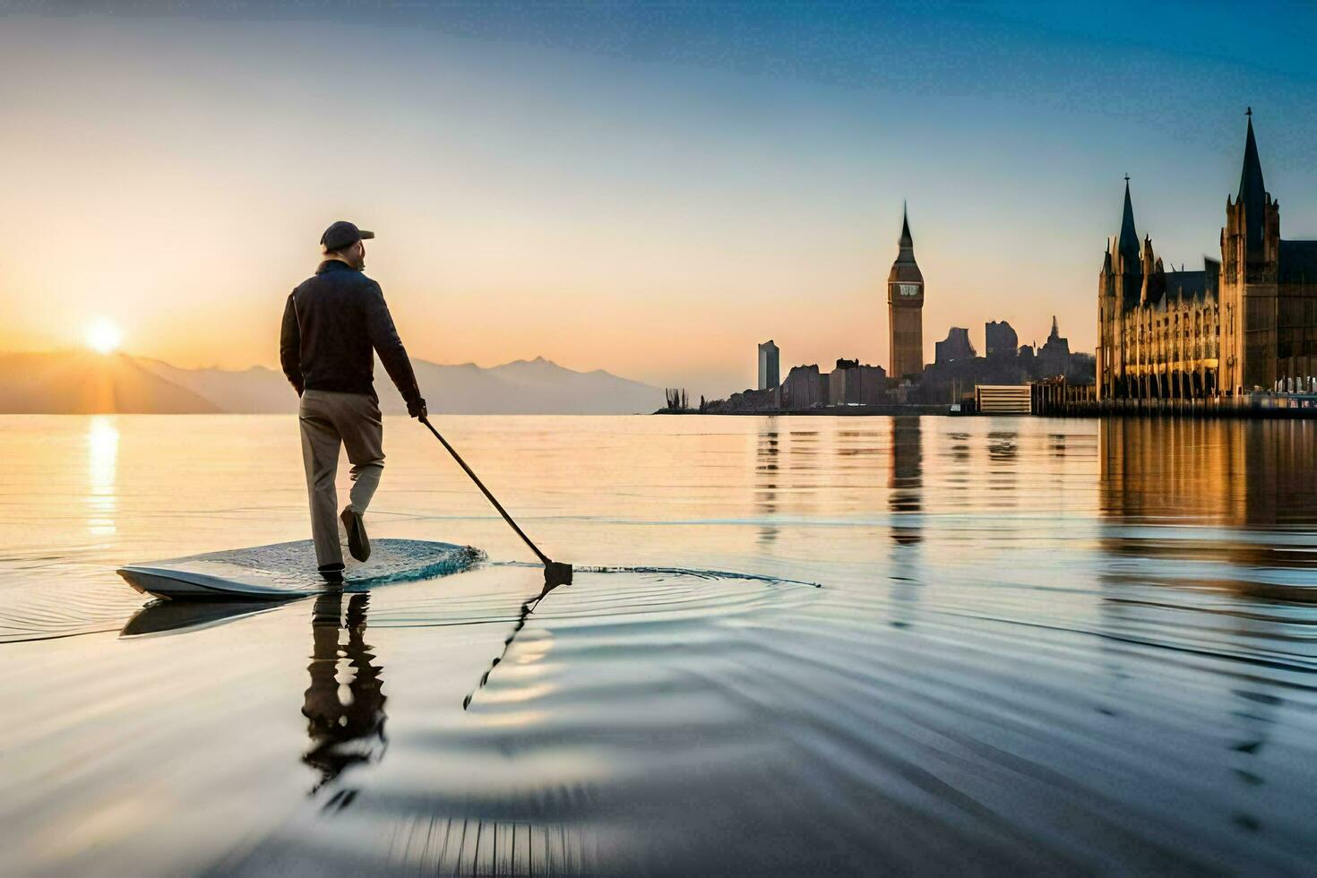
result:
<svg viewBox="0 0 1317 878"><path fill-rule="evenodd" d="M902 204L925 357L1071 348L1131 178L1220 253L1254 109L1317 238L1317 12L1267 4L0 0L0 350L275 366L333 220L414 357L537 355L691 396L888 365ZM101 323L97 323L101 321Z"/></svg>

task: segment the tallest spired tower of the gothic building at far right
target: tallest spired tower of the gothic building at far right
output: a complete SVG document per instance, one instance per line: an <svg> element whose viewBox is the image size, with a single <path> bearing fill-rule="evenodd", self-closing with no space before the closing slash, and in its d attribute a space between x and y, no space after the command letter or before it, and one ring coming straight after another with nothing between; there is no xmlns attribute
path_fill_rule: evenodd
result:
<svg viewBox="0 0 1317 878"><path fill-rule="evenodd" d="M1221 388L1247 394L1276 382L1280 205L1262 178L1252 108L1243 145L1239 191L1226 197L1221 229Z"/></svg>

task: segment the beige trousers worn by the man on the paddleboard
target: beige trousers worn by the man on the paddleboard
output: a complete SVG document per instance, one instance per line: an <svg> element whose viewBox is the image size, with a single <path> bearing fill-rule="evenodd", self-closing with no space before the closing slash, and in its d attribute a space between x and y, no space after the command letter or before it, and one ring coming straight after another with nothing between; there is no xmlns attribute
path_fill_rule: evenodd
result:
<svg viewBox="0 0 1317 878"><path fill-rule="evenodd" d="M311 499L311 537L316 562L342 563L338 545L338 446L348 449L352 463L354 512L365 515L370 498L379 487L385 469L385 424L379 405L365 394L338 394L308 390L302 394L302 462L307 469L307 495Z"/></svg>

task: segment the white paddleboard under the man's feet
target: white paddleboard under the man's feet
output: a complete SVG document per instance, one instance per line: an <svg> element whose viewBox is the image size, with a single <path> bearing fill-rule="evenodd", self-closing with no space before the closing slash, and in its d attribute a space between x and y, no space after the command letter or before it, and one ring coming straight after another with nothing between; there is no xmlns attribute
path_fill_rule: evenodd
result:
<svg viewBox="0 0 1317 878"><path fill-rule="evenodd" d="M471 546L427 540L371 540L370 546L365 563L344 553L344 590L441 577L485 557ZM137 591L171 599L278 600L338 587L316 571L311 540L125 565L117 573Z"/></svg>

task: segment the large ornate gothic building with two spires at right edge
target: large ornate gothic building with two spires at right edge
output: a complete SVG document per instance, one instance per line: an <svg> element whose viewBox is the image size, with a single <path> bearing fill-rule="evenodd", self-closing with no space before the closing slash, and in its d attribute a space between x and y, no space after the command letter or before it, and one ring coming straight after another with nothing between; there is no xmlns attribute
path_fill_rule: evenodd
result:
<svg viewBox="0 0 1317 878"><path fill-rule="evenodd" d="M1129 178L1121 232L1098 275L1100 399L1201 399L1317 375L1317 241L1281 241L1249 112L1239 191L1226 199L1221 261L1167 271L1134 228Z"/></svg>

